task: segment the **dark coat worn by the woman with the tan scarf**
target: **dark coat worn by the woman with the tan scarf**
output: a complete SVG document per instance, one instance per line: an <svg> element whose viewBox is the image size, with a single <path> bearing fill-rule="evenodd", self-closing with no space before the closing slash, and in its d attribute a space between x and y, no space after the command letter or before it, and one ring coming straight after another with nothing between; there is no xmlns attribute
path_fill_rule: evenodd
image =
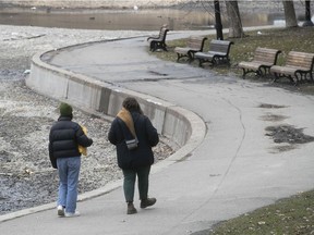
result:
<svg viewBox="0 0 314 235"><path fill-rule="evenodd" d="M129 150L124 140L122 126L118 118L111 123L108 139L117 147L118 165L121 169L136 169L148 166L154 163L154 153L152 147L159 141L157 129L153 126L149 119L138 112L131 112L138 147Z"/></svg>

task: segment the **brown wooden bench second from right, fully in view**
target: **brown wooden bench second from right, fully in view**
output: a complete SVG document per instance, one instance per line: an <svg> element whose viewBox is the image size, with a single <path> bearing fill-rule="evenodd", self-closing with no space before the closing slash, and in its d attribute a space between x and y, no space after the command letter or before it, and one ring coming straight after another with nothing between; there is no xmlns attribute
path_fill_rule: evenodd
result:
<svg viewBox="0 0 314 235"><path fill-rule="evenodd" d="M254 72L257 76L269 74L269 70L277 63L277 58L280 52L280 50L276 49L257 47L252 61L242 61L238 65L243 70L243 78L251 72Z"/></svg>

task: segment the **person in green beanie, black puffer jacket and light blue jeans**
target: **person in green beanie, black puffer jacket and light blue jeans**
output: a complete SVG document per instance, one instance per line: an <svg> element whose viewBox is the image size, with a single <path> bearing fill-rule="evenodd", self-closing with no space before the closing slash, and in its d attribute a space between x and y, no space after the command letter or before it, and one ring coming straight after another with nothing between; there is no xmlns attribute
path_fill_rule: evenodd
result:
<svg viewBox="0 0 314 235"><path fill-rule="evenodd" d="M58 169L59 195L58 215L76 217L77 184L81 168L78 146L89 147L93 139L88 138L82 127L72 121L72 107L60 104L60 118L49 133L49 158L51 165Z"/></svg>

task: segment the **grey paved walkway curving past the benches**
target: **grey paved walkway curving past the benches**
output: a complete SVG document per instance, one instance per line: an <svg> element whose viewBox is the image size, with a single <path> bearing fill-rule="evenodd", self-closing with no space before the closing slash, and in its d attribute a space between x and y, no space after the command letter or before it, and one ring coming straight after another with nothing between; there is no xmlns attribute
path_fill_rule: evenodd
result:
<svg viewBox="0 0 314 235"><path fill-rule="evenodd" d="M56 54L50 63L159 97L204 120L207 131L200 146L152 174L156 206L141 210L135 201L138 213L126 215L119 187L78 202L80 218L60 219L55 209L45 210L0 223L1 234L192 234L314 187L314 144L279 151L286 144L265 135L267 126L289 124L314 136L313 97L159 61L146 47L144 37L94 44ZM275 115L282 119L270 119Z"/></svg>

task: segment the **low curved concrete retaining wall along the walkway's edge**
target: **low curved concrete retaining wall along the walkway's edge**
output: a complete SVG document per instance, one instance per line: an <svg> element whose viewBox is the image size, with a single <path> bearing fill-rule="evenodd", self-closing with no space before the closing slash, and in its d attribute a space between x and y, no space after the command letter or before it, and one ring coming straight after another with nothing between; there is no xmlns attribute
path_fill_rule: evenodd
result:
<svg viewBox="0 0 314 235"><path fill-rule="evenodd" d="M123 99L136 97L144 113L152 120L158 133L181 148L171 157L178 160L190 153L204 138L206 126L200 116L172 103L138 94L114 85L95 81L41 61L46 53L35 54L26 85L35 91L89 113L101 113L111 118L121 109Z"/></svg>

